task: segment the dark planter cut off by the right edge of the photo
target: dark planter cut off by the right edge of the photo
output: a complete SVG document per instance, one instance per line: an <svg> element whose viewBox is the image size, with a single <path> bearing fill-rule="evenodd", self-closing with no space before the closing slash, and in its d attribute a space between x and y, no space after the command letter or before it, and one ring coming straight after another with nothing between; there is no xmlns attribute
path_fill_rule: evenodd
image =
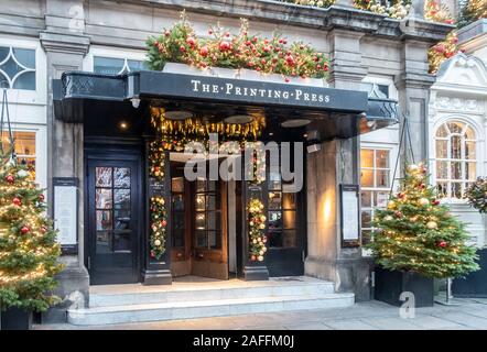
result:
<svg viewBox="0 0 487 352"><path fill-rule="evenodd" d="M487 249L478 250L480 270L465 278L455 278L452 284L453 297L487 298Z"/></svg>

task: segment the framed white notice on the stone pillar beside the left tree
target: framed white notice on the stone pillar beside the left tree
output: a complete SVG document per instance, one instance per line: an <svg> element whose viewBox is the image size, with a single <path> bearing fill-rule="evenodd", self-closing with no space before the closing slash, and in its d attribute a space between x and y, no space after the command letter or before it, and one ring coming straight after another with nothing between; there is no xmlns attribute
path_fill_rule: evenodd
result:
<svg viewBox="0 0 487 352"><path fill-rule="evenodd" d="M55 177L53 186L57 242L64 254L75 254L78 252L78 179Z"/></svg>

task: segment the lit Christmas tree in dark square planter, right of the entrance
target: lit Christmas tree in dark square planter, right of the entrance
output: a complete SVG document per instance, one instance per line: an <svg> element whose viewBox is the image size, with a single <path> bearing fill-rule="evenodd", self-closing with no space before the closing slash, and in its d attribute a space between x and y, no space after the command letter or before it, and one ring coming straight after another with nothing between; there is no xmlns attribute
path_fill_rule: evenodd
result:
<svg viewBox="0 0 487 352"><path fill-rule="evenodd" d="M433 278L453 278L478 270L476 249L466 244L465 226L440 202L423 164L405 167L400 190L378 209L372 251L375 298L400 306L414 295L415 307L433 306Z"/></svg>

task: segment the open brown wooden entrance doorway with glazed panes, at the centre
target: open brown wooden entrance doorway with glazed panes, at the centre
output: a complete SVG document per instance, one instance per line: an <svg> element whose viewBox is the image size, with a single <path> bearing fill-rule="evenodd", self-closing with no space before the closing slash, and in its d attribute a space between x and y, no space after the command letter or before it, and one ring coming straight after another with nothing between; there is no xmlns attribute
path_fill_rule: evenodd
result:
<svg viewBox="0 0 487 352"><path fill-rule="evenodd" d="M228 185L208 175L190 182L184 165L172 154L172 275L228 279Z"/></svg>

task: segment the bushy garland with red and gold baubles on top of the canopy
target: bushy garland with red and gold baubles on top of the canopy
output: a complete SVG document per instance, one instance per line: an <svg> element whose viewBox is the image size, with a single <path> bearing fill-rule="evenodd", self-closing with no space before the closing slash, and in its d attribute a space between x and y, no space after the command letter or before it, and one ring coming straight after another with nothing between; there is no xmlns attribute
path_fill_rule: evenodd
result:
<svg viewBox="0 0 487 352"><path fill-rule="evenodd" d="M183 11L181 21L159 36L150 36L148 64L161 70L165 63L184 63L201 69L208 67L249 68L264 74L288 77L325 78L328 59L323 53L302 42L290 45L279 34L270 38L250 35L248 21L241 20L238 34L219 25L208 31L209 37L199 38Z"/></svg>

